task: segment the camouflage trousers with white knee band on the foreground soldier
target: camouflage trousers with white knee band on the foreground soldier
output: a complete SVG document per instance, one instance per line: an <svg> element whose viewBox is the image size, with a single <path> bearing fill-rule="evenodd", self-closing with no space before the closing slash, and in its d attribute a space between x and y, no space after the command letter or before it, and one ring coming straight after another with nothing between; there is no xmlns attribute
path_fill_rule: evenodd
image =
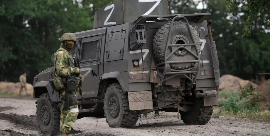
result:
<svg viewBox="0 0 270 136"><path fill-rule="evenodd" d="M62 91L61 95L65 97L65 91ZM79 114L78 105L72 105L68 110L64 109L64 107L65 101L63 101L63 105L61 106L60 132L64 132L65 130L70 131Z"/></svg>

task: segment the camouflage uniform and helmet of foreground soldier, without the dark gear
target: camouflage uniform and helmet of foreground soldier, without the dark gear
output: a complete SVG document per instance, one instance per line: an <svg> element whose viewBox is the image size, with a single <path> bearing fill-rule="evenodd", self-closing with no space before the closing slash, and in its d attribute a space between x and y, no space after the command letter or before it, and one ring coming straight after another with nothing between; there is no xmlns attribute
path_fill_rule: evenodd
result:
<svg viewBox="0 0 270 136"><path fill-rule="evenodd" d="M65 37L65 36L68 36L68 37ZM58 51L55 54L56 76L68 77L68 76L80 73L79 68L69 67L69 59L70 59L69 57L71 57L71 54L70 54L70 49L66 46L66 43L65 43L65 38L67 38L68 40L71 39L72 41L76 42L76 37L75 35L71 33L65 33L63 37L61 38L61 42L63 42L63 44L61 45L60 49L58 49ZM73 58L71 57L71 59ZM65 98L66 90L62 90L60 93L62 97ZM76 96L76 90L72 91L71 93L72 95ZM61 134L67 133L68 135L68 132L71 130L71 127L74 125L75 120L77 119L78 113L79 113L79 109L78 109L77 104L71 105L69 106L69 108L65 108L65 101L63 101L63 105L61 107L61 116L60 116Z"/></svg>

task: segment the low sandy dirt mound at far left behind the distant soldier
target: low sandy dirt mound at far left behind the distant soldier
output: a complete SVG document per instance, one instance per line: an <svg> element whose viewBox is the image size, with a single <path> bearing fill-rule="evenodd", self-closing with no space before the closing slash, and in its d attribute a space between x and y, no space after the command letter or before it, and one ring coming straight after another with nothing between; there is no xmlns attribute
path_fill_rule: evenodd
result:
<svg viewBox="0 0 270 136"><path fill-rule="evenodd" d="M5 94L19 94L21 83L17 82L0 82L0 92ZM33 85L26 83L27 93L33 93ZM22 91L22 95L25 91Z"/></svg>

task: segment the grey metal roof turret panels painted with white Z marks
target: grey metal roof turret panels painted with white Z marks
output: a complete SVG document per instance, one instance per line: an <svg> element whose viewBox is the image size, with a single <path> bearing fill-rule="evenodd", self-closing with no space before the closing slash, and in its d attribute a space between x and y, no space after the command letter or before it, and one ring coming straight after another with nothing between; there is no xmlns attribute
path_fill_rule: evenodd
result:
<svg viewBox="0 0 270 136"><path fill-rule="evenodd" d="M96 10L94 28L131 23L140 16L167 13L167 0L117 0Z"/></svg>

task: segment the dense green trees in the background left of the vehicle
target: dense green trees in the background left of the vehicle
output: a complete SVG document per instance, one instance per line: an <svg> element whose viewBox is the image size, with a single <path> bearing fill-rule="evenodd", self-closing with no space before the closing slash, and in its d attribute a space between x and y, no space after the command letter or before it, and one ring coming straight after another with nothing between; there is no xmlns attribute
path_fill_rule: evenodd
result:
<svg viewBox="0 0 270 136"><path fill-rule="evenodd" d="M106 3L105 3L106 2ZM0 80L27 82L50 67L50 57L60 47L65 32L93 28L94 7L108 1L2 0L0 1Z"/></svg>

